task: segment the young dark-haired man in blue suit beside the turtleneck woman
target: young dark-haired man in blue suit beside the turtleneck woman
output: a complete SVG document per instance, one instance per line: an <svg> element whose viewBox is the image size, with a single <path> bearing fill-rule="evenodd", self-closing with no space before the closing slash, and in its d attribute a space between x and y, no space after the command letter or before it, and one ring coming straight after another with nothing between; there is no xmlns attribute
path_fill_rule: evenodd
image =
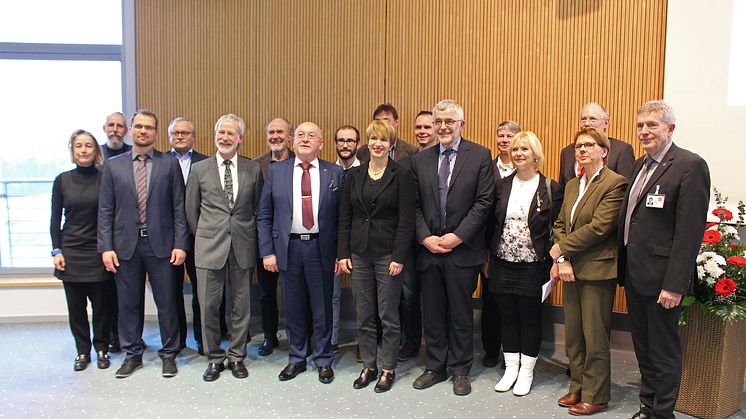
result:
<svg viewBox="0 0 746 419"><path fill-rule="evenodd" d="M127 357L116 372L129 377L142 367L145 274L158 307L162 375L177 373L179 324L172 265L184 263L189 235L179 163L153 149L158 119L139 110L131 121L134 146L104 166L98 206L98 251L116 273L119 341Z"/></svg>

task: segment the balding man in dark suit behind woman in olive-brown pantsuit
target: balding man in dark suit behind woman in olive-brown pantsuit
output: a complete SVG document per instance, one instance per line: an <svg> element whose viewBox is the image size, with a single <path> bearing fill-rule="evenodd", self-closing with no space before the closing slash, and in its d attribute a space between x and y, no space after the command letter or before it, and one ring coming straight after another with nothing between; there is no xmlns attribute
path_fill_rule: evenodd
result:
<svg viewBox="0 0 746 419"><path fill-rule="evenodd" d="M609 127L609 113L603 106L596 102L586 103L580 110L580 129L596 128L606 133ZM608 164L606 167L631 180L632 165L635 162L635 151L632 146L624 141L609 137L611 149L609 150ZM560 153L560 186L563 188L570 179L580 174L581 166L575 161L575 146L569 144Z"/></svg>

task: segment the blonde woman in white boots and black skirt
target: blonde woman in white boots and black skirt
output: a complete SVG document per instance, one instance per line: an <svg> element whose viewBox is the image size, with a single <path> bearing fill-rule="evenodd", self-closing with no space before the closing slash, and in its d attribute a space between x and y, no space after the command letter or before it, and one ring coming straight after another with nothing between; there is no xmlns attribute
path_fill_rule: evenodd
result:
<svg viewBox="0 0 746 419"><path fill-rule="evenodd" d="M539 172L536 134L519 132L509 149L515 173L498 181L490 245L490 295L497 299L505 374L495 391L531 391L541 345L541 286L549 278L550 233L562 207L559 184Z"/></svg>

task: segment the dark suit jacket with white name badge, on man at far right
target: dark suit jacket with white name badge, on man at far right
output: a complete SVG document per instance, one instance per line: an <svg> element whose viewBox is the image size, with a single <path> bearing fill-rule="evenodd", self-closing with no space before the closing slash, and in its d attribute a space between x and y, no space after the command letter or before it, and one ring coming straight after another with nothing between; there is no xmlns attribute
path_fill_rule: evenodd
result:
<svg viewBox="0 0 746 419"><path fill-rule="evenodd" d="M633 179L644 157L635 163ZM632 189L630 187L630 189ZM648 193L665 194L663 208L645 206ZM676 144L661 159L632 209L629 239L624 228L629 192L619 213L619 284L641 295L662 289L685 295L696 275L696 258L710 201L710 169L702 157Z"/></svg>

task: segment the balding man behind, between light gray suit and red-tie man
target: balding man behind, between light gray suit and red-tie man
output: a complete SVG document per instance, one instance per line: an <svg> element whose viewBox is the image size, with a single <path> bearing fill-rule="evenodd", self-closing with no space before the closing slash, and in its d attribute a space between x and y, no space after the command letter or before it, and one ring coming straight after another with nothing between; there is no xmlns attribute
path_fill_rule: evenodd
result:
<svg viewBox="0 0 746 419"><path fill-rule="evenodd" d="M294 159L295 153L289 148L292 139L293 126L284 118L275 118L267 124L267 146L269 151L256 159L262 169L262 176L266 179L270 165L286 160ZM264 264L259 263L257 267L258 295L257 299L262 307L262 331L264 341L257 352L260 356L267 356L274 352L280 344L277 340L279 325L277 308L277 281L280 274L269 272L264 269Z"/></svg>

